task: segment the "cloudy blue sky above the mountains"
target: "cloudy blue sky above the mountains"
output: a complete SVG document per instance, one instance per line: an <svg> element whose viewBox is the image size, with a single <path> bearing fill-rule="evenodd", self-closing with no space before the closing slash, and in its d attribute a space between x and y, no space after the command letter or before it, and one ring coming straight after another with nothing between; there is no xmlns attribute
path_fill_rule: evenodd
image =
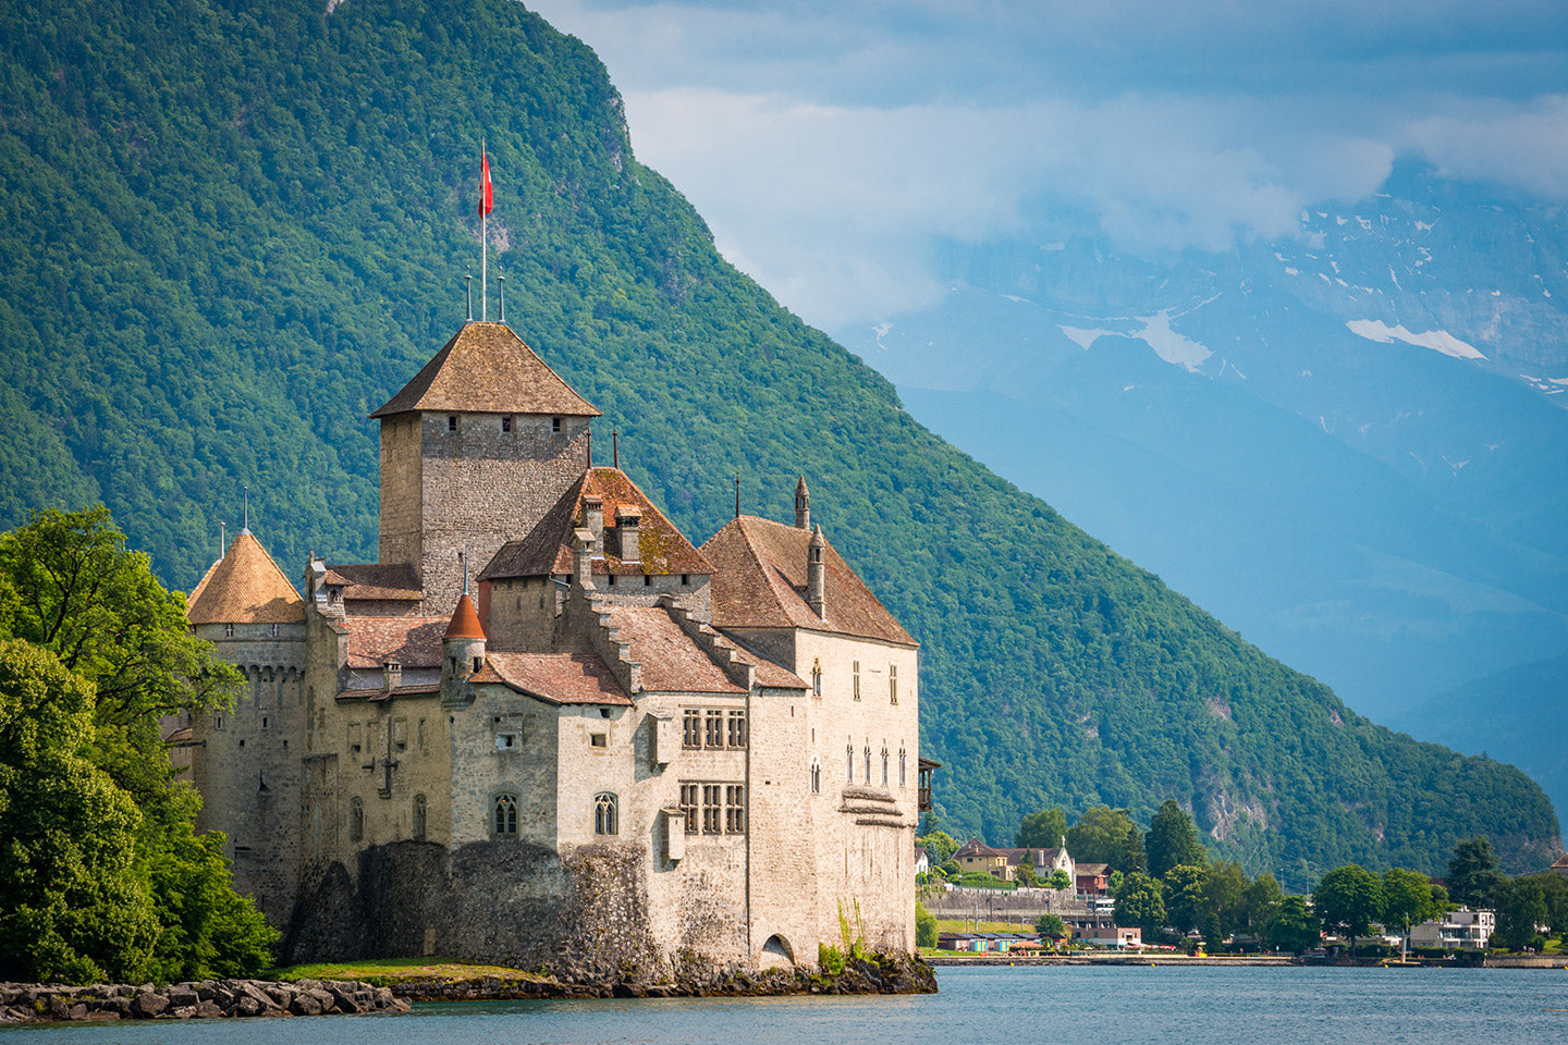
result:
<svg viewBox="0 0 1568 1045"><path fill-rule="evenodd" d="M1568 202L1568 3L539 0L643 163L826 327L941 293L933 244L1292 235L1397 157Z"/></svg>

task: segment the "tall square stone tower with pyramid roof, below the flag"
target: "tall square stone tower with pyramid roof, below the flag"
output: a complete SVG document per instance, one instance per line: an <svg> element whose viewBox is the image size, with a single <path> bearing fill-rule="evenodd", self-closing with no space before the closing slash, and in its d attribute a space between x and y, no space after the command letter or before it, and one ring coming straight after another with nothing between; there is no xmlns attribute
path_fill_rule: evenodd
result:
<svg viewBox="0 0 1568 1045"><path fill-rule="evenodd" d="M422 613L461 591L458 551L485 564L527 536L588 467L599 417L503 323L467 323L386 406L383 564L406 564Z"/></svg>

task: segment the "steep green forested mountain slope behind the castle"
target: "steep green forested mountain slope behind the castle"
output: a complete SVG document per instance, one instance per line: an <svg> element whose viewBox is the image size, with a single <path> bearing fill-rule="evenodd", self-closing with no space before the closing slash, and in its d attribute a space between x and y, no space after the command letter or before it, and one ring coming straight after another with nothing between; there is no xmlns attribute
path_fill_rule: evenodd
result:
<svg viewBox="0 0 1568 1045"><path fill-rule="evenodd" d="M463 318L475 160L508 320L695 537L797 473L924 649L955 832L1190 804L1305 884L1557 837L1510 766L1375 727L1044 503L713 249L594 55L508 0L67 0L0 24L0 522L100 497L188 586L238 515L285 566L373 555L365 415ZM475 293L475 298L478 295ZM494 295L492 295L494 309ZM289 566L293 572L293 566Z"/></svg>

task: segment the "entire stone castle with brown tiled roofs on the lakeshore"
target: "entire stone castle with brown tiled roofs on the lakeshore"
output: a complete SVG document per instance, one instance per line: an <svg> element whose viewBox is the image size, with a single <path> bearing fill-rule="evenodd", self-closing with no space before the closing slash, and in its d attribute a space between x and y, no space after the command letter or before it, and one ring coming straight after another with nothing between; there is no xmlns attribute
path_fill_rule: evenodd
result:
<svg viewBox="0 0 1568 1045"><path fill-rule="evenodd" d="M199 827L285 960L582 974L914 946L916 641L811 525L695 547L599 412L467 323L372 417L375 564L301 598L241 531L190 624L246 678L191 721Z"/></svg>

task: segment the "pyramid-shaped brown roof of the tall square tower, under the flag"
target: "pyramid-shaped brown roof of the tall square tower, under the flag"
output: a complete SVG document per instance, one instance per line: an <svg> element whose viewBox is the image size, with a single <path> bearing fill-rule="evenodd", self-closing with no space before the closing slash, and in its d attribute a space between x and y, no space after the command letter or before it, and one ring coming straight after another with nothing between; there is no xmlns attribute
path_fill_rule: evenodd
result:
<svg viewBox="0 0 1568 1045"><path fill-rule="evenodd" d="M503 323L466 323L370 417L412 410L599 417Z"/></svg>

